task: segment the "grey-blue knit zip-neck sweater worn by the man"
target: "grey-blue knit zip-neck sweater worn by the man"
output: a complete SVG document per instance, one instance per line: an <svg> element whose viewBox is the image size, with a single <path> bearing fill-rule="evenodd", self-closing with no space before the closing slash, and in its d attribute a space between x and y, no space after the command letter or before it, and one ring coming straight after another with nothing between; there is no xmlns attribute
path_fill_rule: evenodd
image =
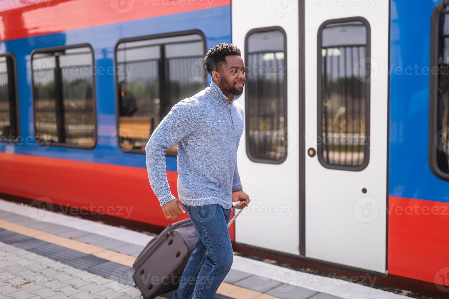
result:
<svg viewBox="0 0 449 299"><path fill-rule="evenodd" d="M211 79L210 87L181 100L160 122L145 146L151 188L160 205L175 197L167 181L165 151L178 145L178 195L189 206L220 204L231 208L232 192L242 189L237 147L244 113Z"/></svg>

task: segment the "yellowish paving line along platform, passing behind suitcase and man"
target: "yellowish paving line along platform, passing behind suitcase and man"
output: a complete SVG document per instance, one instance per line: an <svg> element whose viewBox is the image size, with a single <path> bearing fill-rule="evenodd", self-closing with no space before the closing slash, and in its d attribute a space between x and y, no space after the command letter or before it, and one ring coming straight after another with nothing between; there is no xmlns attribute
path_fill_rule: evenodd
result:
<svg viewBox="0 0 449 299"><path fill-rule="evenodd" d="M127 254L101 248L70 238L61 237L42 230L36 230L31 227L9 222L6 220L0 219L0 228L4 230L10 230L18 234L23 234L31 238L40 239L48 243L80 251L86 254L90 254L92 256L97 256L104 260L110 260L117 264L122 264L128 267L132 267L132 264L134 264L134 261L136 260L134 256L129 256ZM226 282L221 283L220 287L217 290L217 294L225 295L234 299L277 299L277 297L242 288L240 286L234 286Z"/></svg>

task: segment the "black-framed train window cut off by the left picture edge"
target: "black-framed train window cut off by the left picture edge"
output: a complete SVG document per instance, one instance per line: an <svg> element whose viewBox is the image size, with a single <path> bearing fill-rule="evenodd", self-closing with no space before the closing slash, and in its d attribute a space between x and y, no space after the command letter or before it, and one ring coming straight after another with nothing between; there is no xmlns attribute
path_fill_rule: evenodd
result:
<svg viewBox="0 0 449 299"><path fill-rule="evenodd" d="M18 138L18 102L14 56L0 56L0 140Z"/></svg>

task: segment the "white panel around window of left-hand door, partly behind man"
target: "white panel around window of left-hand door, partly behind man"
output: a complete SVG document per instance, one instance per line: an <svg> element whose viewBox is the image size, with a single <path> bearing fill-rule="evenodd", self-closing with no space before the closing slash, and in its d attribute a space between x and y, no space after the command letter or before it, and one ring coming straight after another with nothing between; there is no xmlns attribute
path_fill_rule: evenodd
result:
<svg viewBox="0 0 449 299"><path fill-rule="evenodd" d="M235 240L299 255L298 5L290 5L285 10L273 5L272 0L232 1L232 40L242 50L242 56L248 31L270 26L282 27L286 33L287 126L292 142L282 164L259 163L248 158L246 133L243 133L238 148L238 168L243 190L250 196L251 204L236 221ZM244 94L238 102L245 107Z"/></svg>

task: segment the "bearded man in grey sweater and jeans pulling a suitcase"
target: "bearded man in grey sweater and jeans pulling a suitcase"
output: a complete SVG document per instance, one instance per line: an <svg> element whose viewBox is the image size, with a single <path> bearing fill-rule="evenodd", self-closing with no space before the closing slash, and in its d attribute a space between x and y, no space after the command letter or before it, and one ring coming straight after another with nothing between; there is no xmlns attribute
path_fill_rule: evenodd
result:
<svg viewBox="0 0 449 299"><path fill-rule="evenodd" d="M198 242L181 277L174 299L212 299L229 272L233 251L227 223L232 201L248 205L237 169L237 148L244 114L236 102L245 85L241 51L221 43L204 57L210 87L181 100L148 141L146 165L154 194L167 219L187 212ZM178 145L178 195L168 186L165 151Z"/></svg>

